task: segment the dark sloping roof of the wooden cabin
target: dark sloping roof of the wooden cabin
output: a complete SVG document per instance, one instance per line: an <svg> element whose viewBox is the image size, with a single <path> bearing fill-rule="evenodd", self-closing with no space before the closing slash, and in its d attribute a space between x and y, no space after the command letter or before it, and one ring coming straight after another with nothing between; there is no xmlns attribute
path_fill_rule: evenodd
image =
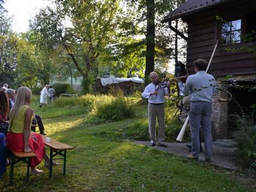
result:
<svg viewBox="0 0 256 192"><path fill-rule="evenodd" d="M227 2L228 0L187 0L182 3L177 9L170 12L167 16L163 17L162 22L174 20L191 13L208 9L212 6L219 5L220 3Z"/></svg>

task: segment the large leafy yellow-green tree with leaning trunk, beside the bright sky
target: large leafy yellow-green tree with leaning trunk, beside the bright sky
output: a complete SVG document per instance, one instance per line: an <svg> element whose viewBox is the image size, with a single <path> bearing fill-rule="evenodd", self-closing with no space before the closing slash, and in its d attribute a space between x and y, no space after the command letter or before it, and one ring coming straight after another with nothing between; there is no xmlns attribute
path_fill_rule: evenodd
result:
<svg viewBox="0 0 256 192"><path fill-rule="evenodd" d="M118 26L118 0L55 1L56 8L40 10L31 29L44 38L44 46L62 48L77 71L88 79L98 74L97 58L111 42ZM63 23L69 23L65 26Z"/></svg>

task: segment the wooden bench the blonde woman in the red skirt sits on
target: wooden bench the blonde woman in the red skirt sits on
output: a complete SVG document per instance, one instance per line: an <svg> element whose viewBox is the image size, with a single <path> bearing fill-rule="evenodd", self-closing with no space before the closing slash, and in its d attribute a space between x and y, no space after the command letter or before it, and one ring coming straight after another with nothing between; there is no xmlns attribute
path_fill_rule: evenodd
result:
<svg viewBox="0 0 256 192"><path fill-rule="evenodd" d="M34 154L34 152L16 152L11 150L10 152L12 153L12 162L10 163L9 185L11 186L13 184L13 172L14 172L15 164L20 161L27 163L26 182L29 182L29 175L30 175L29 169L30 169L31 158L35 157L36 155Z"/></svg>

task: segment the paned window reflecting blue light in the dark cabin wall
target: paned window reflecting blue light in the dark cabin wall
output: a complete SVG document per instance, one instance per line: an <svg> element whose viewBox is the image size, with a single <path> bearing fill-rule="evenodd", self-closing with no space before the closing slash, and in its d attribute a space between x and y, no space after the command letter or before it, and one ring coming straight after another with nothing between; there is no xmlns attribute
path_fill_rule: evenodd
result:
<svg viewBox="0 0 256 192"><path fill-rule="evenodd" d="M241 19L222 23L222 45L233 45L241 42Z"/></svg>

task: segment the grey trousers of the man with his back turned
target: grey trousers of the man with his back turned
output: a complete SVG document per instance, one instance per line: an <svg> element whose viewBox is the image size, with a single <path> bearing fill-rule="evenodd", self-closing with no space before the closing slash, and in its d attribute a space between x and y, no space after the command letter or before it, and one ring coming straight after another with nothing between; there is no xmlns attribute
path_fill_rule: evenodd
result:
<svg viewBox="0 0 256 192"><path fill-rule="evenodd" d="M189 123L192 140L192 154L194 157L198 157L200 152L200 125L204 131L205 158L212 157L211 115L211 102L191 101Z"/></svg>

